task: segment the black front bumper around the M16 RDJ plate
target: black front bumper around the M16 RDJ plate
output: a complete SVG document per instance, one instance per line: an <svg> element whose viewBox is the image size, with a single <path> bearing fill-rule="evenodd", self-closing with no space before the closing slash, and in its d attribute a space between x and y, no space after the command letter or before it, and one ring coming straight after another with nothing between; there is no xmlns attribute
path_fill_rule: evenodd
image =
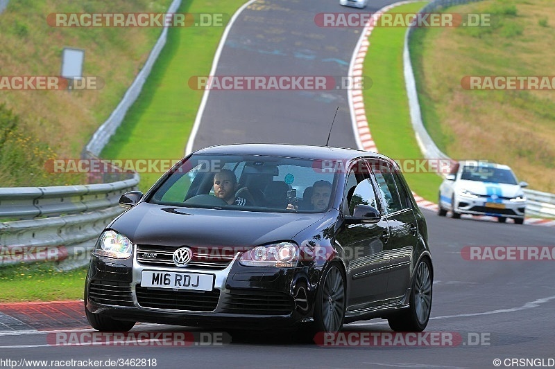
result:
<svg viewBox="0 0 555 369"><path fill-rule="evenodd" d="M174 325L241 323L273 327L311 321L316 285L305 267L244 267L239 254L221 270L149 267L92 257L85 286L89 312L126 321ZM209 273L212 291L141 287L142 271Z"/></svg>

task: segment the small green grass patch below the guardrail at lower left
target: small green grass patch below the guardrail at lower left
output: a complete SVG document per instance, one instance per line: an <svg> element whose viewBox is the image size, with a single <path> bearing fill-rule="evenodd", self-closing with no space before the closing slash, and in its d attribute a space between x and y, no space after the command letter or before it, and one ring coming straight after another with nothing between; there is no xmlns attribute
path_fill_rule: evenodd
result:
<svg viewBox="0 0 555 369"><path fill-rule="evenodd" d="M58 271L49 263L0 267L0 303L83 298L87 268Z"/></svg>

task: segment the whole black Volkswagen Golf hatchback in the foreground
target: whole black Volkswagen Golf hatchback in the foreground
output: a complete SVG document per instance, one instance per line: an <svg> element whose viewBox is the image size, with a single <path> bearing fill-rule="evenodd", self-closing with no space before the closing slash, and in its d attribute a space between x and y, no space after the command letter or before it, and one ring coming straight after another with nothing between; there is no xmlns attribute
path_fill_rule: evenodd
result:
<svg viewBox="0 0 555 369"><path fill-rule="evenodd" d="M334 147L221 145L177 163L99 237L85 312L135 322L336 332L386 318L422 331L432 307L425 219L398 165Z"/></svg>

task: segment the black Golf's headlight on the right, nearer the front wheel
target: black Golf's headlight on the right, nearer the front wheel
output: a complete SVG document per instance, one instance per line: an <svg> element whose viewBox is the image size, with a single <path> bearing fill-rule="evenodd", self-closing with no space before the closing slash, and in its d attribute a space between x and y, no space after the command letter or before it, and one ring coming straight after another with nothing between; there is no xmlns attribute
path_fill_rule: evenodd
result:
<svg viewBox="0 0 555 369"><path fill-rule="evenodd" d="M295 267L297 261L298 247L291 242L256 246L245 251L239 259L246 267Z"/></svg>

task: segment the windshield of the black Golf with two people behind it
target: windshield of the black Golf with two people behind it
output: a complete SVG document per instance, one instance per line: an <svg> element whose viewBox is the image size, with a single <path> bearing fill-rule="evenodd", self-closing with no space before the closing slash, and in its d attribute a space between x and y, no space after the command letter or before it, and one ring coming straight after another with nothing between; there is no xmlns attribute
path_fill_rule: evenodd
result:
<svg viewBox="0 0 555 369"><path fill-rule="evenodd" d="M147 200L191 208L323 213L336 174L313 160L279 156L193 155L173 169Z"/></svg>

